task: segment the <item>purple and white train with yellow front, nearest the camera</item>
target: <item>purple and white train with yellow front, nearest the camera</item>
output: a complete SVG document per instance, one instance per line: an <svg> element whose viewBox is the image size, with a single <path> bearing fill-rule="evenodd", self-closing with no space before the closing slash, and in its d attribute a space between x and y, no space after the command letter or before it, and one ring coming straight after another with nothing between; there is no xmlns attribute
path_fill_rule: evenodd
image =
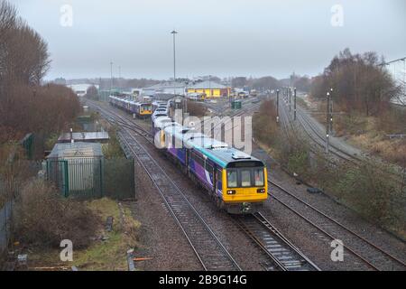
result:
<svg viewBox="0 0 406 289"><path fill-rule="evenodd" d="M254 156L181 126L170 117L156 117L152 132L155 145L205 188L218 208L231 214L252 213L267 200L267 169Z"/></svg>

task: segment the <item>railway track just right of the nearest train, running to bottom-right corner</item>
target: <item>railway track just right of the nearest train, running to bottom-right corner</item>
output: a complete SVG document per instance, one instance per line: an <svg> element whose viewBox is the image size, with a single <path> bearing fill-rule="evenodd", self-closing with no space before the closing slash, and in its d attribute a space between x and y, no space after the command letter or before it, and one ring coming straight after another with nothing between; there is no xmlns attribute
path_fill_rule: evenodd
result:
<svg viewBox="0 0 406 289"><path fill-rule="evenodd" d="M366 266L373 270L406 270L405 261L397 256L393 256L383 247L375 245L373 242L356 233L351 228L346 227L328 214L318 210L305 200L301 200L295 194L281 187L280 184L268 181L273 188L281 191L291 200L282 200L281 197L272 194L272 199L277 200L288 210L293 211L300 219L304 219L312 227L317 228L322 235L330 240L340 239L344 242L344 247L348 253L360 259ZM284 199L284 198L283 198ZM289 202L289 203L288 203ZM295 203L293 205L293 203Z"/></svg>

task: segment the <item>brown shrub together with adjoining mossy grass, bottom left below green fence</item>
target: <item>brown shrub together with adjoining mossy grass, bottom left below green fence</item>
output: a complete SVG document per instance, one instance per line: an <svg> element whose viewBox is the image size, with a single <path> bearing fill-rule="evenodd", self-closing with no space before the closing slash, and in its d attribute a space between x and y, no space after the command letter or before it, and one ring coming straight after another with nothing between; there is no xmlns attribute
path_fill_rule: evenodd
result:
<svg viewBox="0 0 406 289"><path fill-rule="evenodd" d="M126 251L138 247L140 223L116 200L62 199L50 185L28 182L15 210L19 252L29 270L127 270ZM112 217L112 228L106 219ZM60 259L60 241L72 241L72 261Z"/></svg>

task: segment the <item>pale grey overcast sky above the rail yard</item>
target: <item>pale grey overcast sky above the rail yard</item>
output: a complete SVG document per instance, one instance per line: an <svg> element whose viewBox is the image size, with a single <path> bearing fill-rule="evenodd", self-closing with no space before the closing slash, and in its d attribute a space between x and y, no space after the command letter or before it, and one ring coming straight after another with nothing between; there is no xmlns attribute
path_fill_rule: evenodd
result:
<svg viewBox="0 0 406 289"><path fill-rule="evenodd" d="M388 61L406 56L404 0L11 2L49 43L47 79L109 77L110 61L115 76L120 65L126 78L168 79L172 29L178 77L316 75L346 47Z"/></svg>

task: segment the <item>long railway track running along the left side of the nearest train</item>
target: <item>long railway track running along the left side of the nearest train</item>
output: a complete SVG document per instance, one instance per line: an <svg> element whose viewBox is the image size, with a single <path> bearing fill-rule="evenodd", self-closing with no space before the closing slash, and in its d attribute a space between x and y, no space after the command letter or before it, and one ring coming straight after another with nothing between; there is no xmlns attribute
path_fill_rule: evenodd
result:
<svg viewBox="0 0 406 289"><path fill-rule="evenodd" d="M124 117L114 116L106 109L98 108L109 121L122 125ZM135 127L138 129L138 133L135 134L145 138L145 135L139 134L139 132L145 133L145 130L139 126ZM180 188L172 182L171 177L161 169L161 166L156 163L152 155L143 147L143 144L129 130L129 127L124 126L118 132L125 154L133 156L143 166L167 209L187 238L203 269L207 271L241 271L233 256L198 214L198 211L190 204ZM134 132L134 130L131 131Z"/></svg>

